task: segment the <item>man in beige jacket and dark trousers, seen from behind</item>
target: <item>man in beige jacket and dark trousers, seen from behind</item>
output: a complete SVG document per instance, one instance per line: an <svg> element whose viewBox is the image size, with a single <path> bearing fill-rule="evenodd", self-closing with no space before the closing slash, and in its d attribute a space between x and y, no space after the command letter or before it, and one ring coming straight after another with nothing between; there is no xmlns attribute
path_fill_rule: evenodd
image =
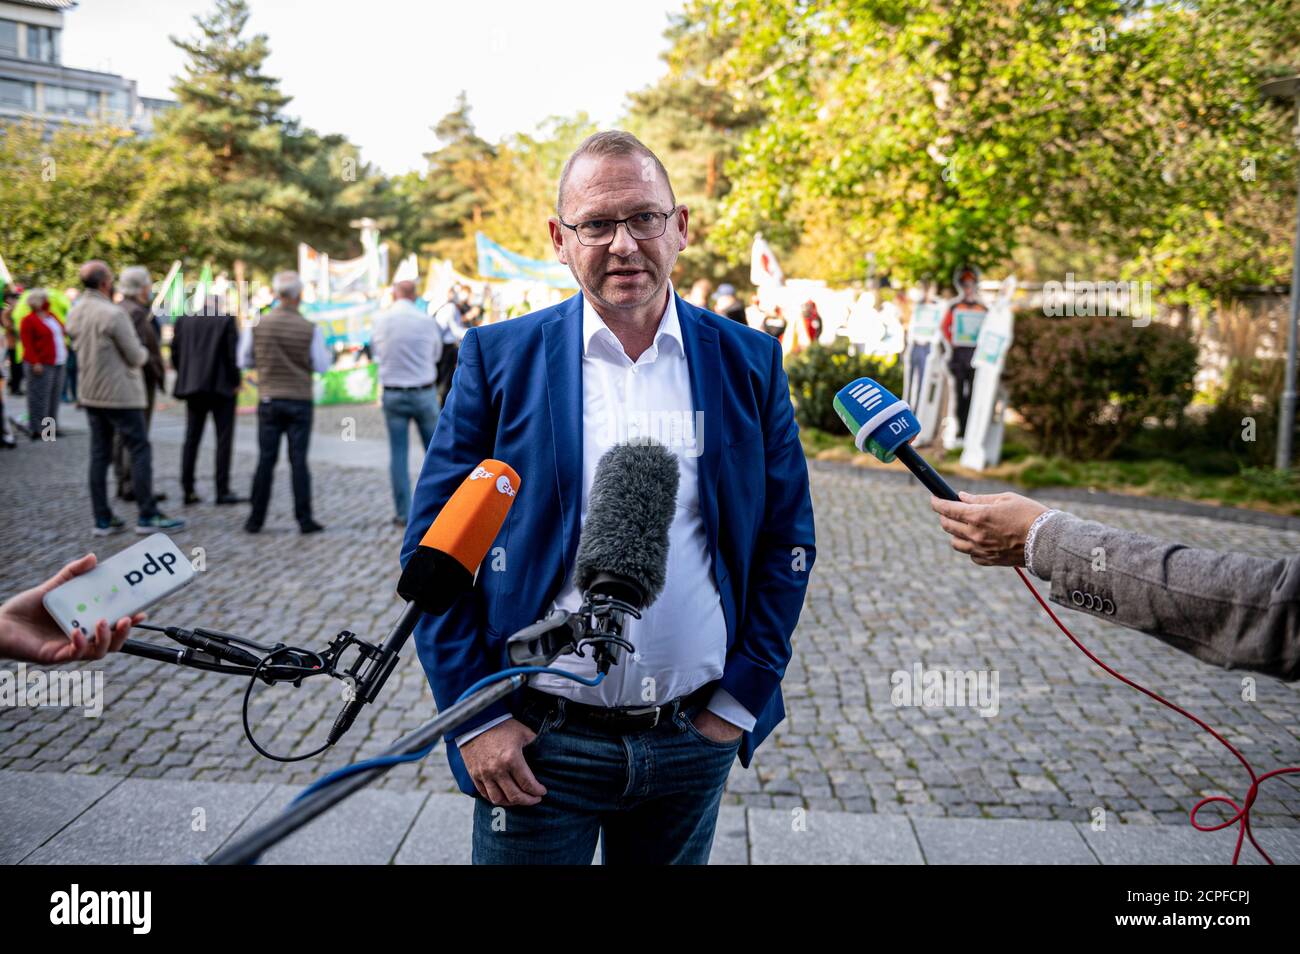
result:
<svg viewBox="0 0 1300 954"><path fill-rule="evenodd" d="M68 312L68 334L77 350L79 394L77 403L90 422L90 496L95 509L95 535L107 537L124 522L108 506L108 465L113 434L121 434L131 455L131 477L139 519L135 532L179 530L183 520L162 515L153 500L153 456L144 428L144 378L140 368L150 352L140 343L131 318L113 304L113 270L103 261L81 268L86 290Z"/></svg>

